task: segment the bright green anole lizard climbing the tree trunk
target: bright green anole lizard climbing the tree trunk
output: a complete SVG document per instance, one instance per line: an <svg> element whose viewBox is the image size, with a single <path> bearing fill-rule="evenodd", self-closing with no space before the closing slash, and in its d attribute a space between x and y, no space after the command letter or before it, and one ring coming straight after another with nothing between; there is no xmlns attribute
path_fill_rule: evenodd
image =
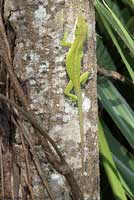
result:
<svg viewBox="0 0 134 200"><path fill-rule="evenodd" d="M84 173L84 129L83 129L83 110L82 110L82 93L81 84L85 84L89 77L89 72L84 72L80 75L81 61L83 58L84 43L87 39L88 26L83 16L78 16L73 43L66 42L67 33L64 34L61 40L62 46L70 47L66 55L66 70L69 76L69 83L67 84L64 94L72 101L77 101L79 125L80 125L80 138L81 138L81 163L82 173ZM74 91L74 94L71 91Z"/></svg>

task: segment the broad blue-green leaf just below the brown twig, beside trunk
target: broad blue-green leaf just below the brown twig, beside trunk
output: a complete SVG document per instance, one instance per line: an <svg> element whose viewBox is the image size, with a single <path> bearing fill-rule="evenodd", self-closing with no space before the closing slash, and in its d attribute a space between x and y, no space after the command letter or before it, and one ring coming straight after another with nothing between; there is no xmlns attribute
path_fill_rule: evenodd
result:
<svg viewBox="0 0 134 200"><path fill-rule="evenodd" d="M110 81L98 84L98 97L129 144L134 148L134 113Z"/></svg>

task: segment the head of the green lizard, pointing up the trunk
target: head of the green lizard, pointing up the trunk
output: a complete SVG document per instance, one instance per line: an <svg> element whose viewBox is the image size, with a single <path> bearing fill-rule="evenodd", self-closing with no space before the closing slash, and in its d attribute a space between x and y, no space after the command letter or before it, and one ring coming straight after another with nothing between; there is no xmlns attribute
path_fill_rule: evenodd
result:
<svg viewBox="0 0 134 200"><path fill-rule="evenodd" d="M88 26L85 18L80 15L77 18L76 27L75 27L75 36L83 35L85 39L88 33Z"/></svg>

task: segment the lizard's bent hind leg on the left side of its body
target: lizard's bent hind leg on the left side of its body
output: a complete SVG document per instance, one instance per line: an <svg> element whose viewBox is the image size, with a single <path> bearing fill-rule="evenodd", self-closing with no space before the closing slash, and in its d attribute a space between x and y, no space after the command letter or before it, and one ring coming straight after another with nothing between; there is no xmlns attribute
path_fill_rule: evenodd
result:
<svg viewBox="0 0 134 200"><path fill-rule="evenodd" d="M65 90L64 90L64 94L66 96L68 96L72 101L77 101L77 96L75 94L71 93L72 89L73 89L73 83L70 80L69 83L67 84Z"/></svg>

